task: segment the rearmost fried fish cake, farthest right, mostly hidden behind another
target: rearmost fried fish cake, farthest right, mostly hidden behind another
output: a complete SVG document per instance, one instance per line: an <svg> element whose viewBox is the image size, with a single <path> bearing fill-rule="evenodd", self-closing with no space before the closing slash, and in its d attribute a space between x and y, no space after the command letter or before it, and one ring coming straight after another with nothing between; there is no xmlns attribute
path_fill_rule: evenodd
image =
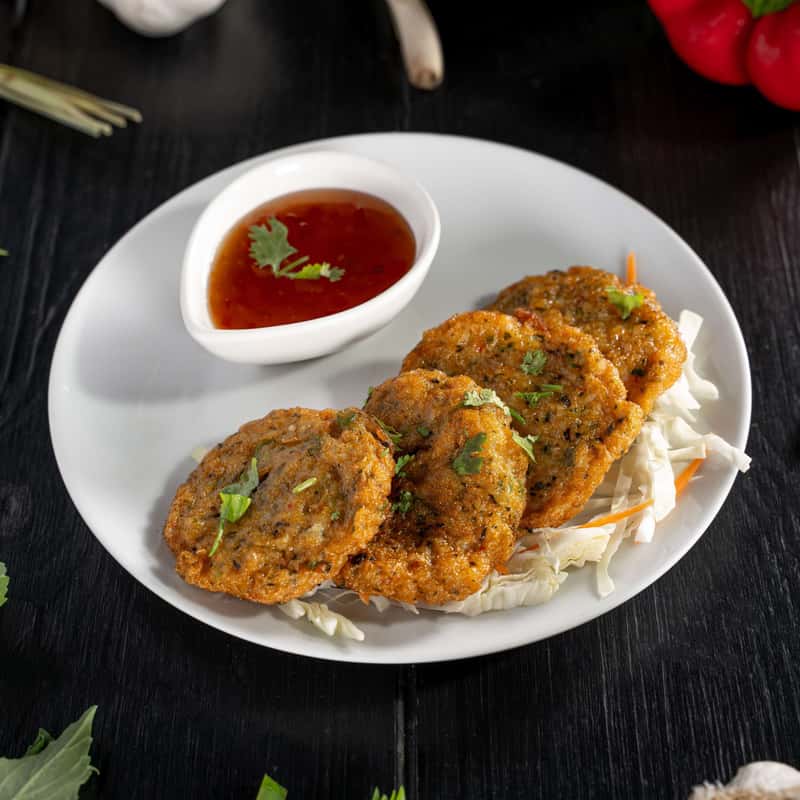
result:
<svg viewBox="0 0 800 800"><path fill-rule="evenodd" d="M609 288L640 294L643 302L623 319ZM594 338L619 371L628 399L638 403L645 416L656 398L678 380L686 360L678 329L655 294L639 284L626 287L616 275L593 267L523 278L503 289L489 308L506 314L517 308L559 311L570 325Z"/></svg>

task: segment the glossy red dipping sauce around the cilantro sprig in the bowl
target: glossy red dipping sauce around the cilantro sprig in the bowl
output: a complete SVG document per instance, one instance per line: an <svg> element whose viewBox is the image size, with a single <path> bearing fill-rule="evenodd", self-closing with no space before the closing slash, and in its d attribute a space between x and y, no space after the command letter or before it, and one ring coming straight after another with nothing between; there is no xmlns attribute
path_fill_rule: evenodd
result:
<svg viewBox="0 0 800 800"><path fill-rule="evenodd" d="M343 269L332 282L276 278L250 256L252 225L277 217L307 263ZM302 322L352 308L408 272L416 257L411 228L384 200L348 189L312 189L278 197L251 211L223 239L208 282L208 306L217 328L264 328ZM298 267L299 269L299 267Z"/></svg>

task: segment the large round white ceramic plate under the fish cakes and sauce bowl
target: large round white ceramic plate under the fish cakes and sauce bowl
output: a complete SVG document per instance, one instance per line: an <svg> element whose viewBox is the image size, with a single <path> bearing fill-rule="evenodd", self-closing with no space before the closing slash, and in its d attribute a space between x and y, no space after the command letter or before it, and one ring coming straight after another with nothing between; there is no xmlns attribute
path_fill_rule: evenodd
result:
<svg viewBox="0 0 800 800"><path fill-rule="evenodd" d="M50 375L50 429L67 489L86 523L128 572L167 602L215 628L292 653L341 661L444 661L535 642L580 625L653 583L697 541L725 500L734 469L709 467L647 546L614 559L616 591L601 599L591 568L574 572L546 606L479 617L353 603L363 642L329 639L278 609L184 584L161 537L190 453L273 408L360 405L394 375L426 328L472 309L523 275L571 264L621 271L635 249L640 279L677 317L705 318L701 371L720 389L706 425L743 447L750 374L739 326L716 281L663 222L617 190L557 161L473 139L380 134L292 148L383 160L417 178L442 220L439 253L419 294L386 328L348 349L280 367L229 364L184 330L181 258L192 225L227 183L259 159L192 186L114 246L64 322ZM287 150L264 158L285 155ZM500 617L502 614L502 618Z"/></svg>

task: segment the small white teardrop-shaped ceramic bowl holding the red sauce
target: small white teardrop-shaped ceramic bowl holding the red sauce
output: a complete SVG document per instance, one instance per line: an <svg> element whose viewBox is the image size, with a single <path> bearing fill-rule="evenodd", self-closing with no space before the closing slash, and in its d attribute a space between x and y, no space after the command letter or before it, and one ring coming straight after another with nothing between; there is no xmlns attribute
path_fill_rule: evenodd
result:
<svg viewBox="0 0 800 800"><path fill-rule="evenodd" d="M394 206L416 240L411 269L379 295L346 311L268 328L215 328L208 310L208 278L222 240L253 209L304 189L352 189ZM425 189L386 164L328 151L267 161L223 189L197 220L181 272L183 322L195 341L227 361L282 364L333 353L374 333L408 304L428 274L439 234L439 213Z"/></svg>

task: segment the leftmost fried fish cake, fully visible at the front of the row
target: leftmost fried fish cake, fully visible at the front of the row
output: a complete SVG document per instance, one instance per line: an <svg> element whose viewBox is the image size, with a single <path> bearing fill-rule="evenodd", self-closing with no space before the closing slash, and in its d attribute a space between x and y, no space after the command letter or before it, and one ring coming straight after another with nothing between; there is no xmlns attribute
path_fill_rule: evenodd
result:
<svg viewBox="0 0 800 800"><path fill-rule="evenodd" d="M357 409L273 411L217 445L178 489L164 527L188 583L282 603L335 575L378 532L394 474L391 442ZM256 459L259 483L237 522L220 491Z"/></svg>

